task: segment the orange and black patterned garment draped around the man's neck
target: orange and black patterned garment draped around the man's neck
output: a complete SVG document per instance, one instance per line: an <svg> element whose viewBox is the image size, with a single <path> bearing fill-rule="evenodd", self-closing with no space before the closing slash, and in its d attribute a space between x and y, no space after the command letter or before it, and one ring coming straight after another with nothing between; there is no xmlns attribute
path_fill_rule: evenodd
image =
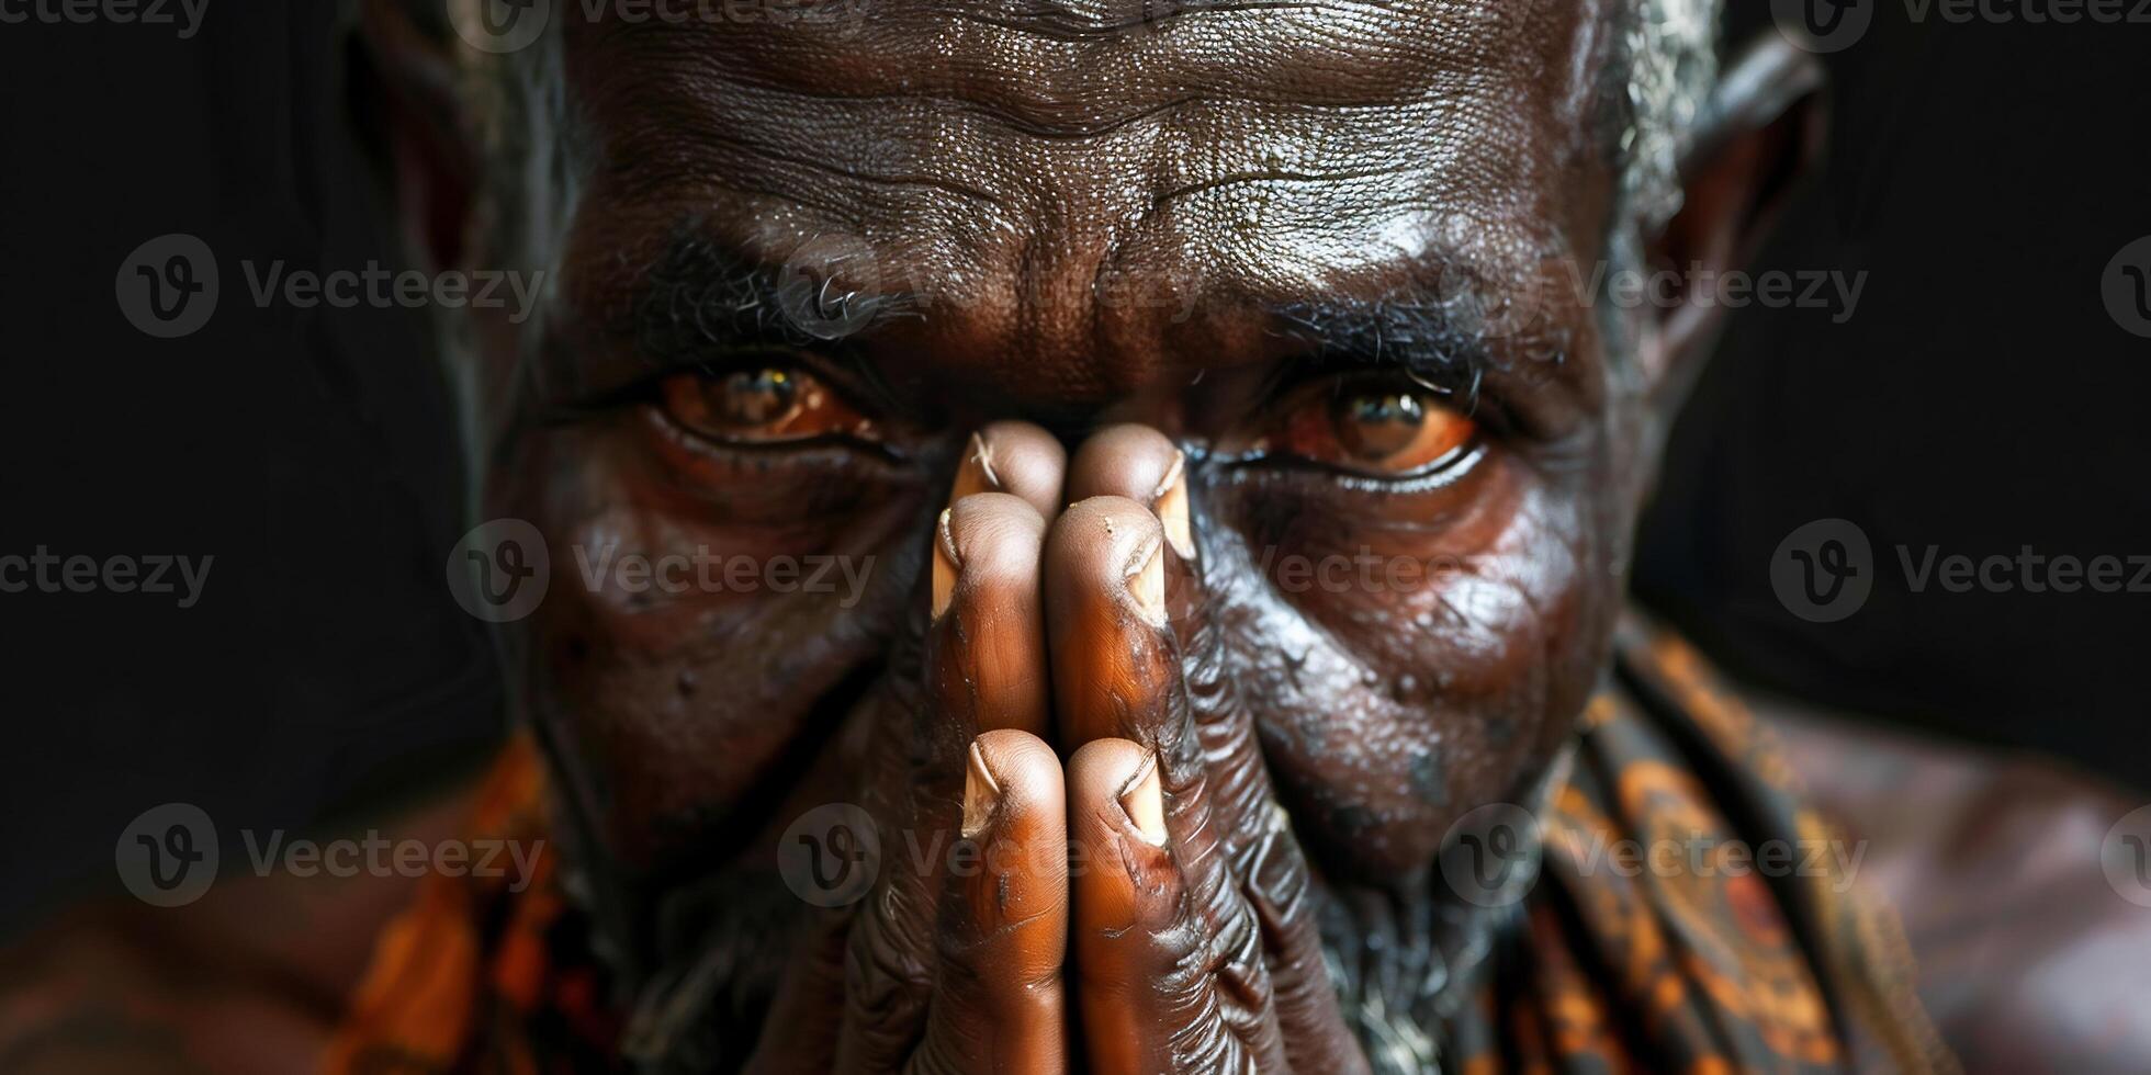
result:
<svg viewBox="0 0 2151 1075"><path fill-rule="evenodd" d="M1848 884L1843 845L1792 785L1691 647L1624 628L1542 811L1540 875L1441 1028L1441 1071L1955 1071L1895 916ZM544 768L518 737L473 834L546 830ZM376 940L325 1069L624 1071L624 1004L551 851L523 892L430 877Z"/></svg>

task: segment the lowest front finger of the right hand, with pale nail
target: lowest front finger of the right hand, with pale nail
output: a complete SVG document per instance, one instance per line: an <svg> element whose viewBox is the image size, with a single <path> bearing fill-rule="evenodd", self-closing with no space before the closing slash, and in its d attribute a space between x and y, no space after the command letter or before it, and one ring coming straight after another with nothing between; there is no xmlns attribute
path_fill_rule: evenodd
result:
<svg viewBox="0 0 2151 1075"><path fill-rule="evenodd" d="M1091 1069L1282 1071L1273 1026L1263 1032L1245 1015L1260 1010L1260 985L1230 970L1220 976L1215 935L1198 922L1183 858L1168 849L1157 759L1129 740L1093 740L1076 750L1067 780L1073 963ZM1252 933L1243 942L1252 946Z"/></svg>

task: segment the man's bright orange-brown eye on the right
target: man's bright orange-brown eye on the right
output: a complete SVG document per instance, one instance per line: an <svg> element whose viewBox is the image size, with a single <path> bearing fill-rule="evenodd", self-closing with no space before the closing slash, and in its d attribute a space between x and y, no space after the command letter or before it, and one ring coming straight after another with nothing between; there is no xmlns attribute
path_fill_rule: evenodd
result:
<svg viewBox="0 0 2151 1075"><path fill-rule="evenodd" d="M1413 477L1469 454L1478 424L1448 398L1390 381L1310 385L1288 400L1271 447L1291 456L1364 473Z"/></svg>

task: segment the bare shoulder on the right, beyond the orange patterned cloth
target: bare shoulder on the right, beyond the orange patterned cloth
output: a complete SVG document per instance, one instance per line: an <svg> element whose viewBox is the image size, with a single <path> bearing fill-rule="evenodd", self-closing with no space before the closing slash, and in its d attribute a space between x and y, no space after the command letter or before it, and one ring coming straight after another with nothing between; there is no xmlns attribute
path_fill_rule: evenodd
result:
<svg viewBox="0 0 2151 1075"><path fill-rule="evenodd" d="M2145 798L2043 759L1757 712L1904 916L1966 1071L2151 1071L2151 823L2117 828Z"/></svg>

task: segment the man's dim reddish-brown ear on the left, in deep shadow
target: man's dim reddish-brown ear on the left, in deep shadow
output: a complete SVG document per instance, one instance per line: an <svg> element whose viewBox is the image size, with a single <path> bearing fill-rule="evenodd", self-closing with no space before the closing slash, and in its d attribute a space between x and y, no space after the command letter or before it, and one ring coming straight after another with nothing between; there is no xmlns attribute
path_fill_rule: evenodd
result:
<svg viewBox="0 0 2151 1075"><path fill-rule="evenodd" d="M404 243L426 269L460 264L471 221L478 135L458 49L445 4L359 0L351 103L385 166Z"/></svg>

